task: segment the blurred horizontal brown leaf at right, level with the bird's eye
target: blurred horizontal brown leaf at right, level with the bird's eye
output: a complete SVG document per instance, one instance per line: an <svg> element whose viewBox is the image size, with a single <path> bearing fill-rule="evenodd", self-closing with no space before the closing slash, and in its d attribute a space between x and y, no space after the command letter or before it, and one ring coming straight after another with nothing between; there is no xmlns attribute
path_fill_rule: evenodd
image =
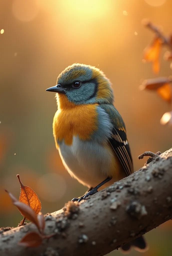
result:
<svg viewBox="0 0 172 256"><path fill-rule="evenodd" d="M140 85L140 90L157 90L159 87L164 86L164 84L167 84L169 82L168 77L158 77L158 78L152 78L152 79L146 79L143 81L143 83Z"/></svg>

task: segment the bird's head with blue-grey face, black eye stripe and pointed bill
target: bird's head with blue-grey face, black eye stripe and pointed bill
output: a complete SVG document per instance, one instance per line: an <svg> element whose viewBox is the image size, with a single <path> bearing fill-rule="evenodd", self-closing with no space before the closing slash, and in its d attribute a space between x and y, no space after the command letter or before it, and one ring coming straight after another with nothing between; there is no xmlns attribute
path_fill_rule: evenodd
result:
<svg viewBox="0 0 172 256"><path fill-rule="evenodd" d="M57 93L60 108L113 101L111 83L105 74L98 68L79 63L63 70L57 78L56 86L46 91Z"/></svg>

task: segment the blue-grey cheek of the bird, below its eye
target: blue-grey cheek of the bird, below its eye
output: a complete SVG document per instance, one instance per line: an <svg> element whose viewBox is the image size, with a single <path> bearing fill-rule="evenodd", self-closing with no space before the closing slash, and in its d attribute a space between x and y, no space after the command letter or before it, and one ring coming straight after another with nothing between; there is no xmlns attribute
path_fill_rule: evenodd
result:
<svg viewBox="0 0 172 256"><path fill-rule="evenodd" d="M66 96L71 102L76 104L85 104L85 101L87 101L94 94L95 87L95 83L84 83L79 89L72 88L71 90L67 91Z"/></svg>

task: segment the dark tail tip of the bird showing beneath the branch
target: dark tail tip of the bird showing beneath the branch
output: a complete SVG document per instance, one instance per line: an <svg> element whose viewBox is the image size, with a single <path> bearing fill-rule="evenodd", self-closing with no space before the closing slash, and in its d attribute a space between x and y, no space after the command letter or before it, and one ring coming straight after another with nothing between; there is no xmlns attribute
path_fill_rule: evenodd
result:
<svg viewBox="0 0 172 256"><path fill-rule="evenodd" d="M138 237L136 239L134 239L133 241L129 242L129 243L126 243L124 244L122 247L121 247L121 250L122 250L122 253L124 254L127 254L130 252L130 249L134 247L134 249L136 251L139 251L139 252L145 252L148 250L148 246L145 242L145 239L143 238L143 236L141 237Z"/></svg>

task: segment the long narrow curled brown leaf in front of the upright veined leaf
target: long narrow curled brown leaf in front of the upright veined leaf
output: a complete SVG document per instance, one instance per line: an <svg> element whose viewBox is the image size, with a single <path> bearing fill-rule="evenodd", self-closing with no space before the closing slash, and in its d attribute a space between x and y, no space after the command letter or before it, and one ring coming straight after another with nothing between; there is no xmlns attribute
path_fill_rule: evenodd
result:
<svg viewBox="0 0 172 256"><path fill-rule="evenodd" d="M28 205L19 202L10 192L8 192L7 190L5 190L8 195L10 196L13 204L15 206L17 206L18 210L20 211L20 213L27 218L28 220L32 221L37 228L39 229L39 223L38 223L38 219L37 219L37 215L34 212L34 210L32 210Z"/></svg>

